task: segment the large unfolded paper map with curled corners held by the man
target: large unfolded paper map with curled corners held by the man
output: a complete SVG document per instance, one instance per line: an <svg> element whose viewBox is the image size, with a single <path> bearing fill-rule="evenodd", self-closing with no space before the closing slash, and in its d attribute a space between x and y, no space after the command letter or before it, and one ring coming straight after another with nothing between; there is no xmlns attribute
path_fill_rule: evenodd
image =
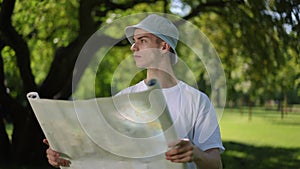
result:
<svg viewBox="0 0 300 169"><path fill-rule="evenodd" d="M165 160L168 144L179 138L157 83L88 100L42 99L35 92L27 98L50 147L71 161L70 169L186 168Z"/></svg>

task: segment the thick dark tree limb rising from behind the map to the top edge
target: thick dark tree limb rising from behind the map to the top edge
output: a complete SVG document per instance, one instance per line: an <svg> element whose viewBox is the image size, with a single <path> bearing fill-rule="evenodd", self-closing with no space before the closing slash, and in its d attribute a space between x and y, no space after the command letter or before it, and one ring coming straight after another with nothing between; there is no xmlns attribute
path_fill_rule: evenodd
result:
<svg viewBox="0 0 300 169"><path fill-rule="evenodd" d="M88 38L96 32L92 18L95 4L97 1L80 1L79 34L67 47L56 50L50 71L39 88L41 97L66 99L72 94L72 75L78 54Z"/></svg>

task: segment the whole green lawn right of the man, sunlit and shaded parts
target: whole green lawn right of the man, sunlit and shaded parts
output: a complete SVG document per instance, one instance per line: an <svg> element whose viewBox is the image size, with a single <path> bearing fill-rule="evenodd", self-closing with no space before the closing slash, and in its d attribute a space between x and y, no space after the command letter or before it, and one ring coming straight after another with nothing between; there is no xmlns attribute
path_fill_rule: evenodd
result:
<svg viewBox="0 0 300 169"><path fill-rule="evenodd" d="M300 113L225 109L220 120L225 169L299 169Z"/></svg>

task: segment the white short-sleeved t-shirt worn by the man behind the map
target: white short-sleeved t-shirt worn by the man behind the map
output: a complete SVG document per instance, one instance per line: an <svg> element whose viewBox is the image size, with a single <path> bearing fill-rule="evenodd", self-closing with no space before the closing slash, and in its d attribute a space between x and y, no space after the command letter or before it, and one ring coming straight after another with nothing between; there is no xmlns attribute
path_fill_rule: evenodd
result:
<svg viewBox="0 0 300 169"><path fill-rule="evenodd" d="M141 92L148 89L144 81L122 90L118 94ZM205 151L219 148L223 152L216 112L203 92L179 81L176 86L162 89L174 127L181 138L188 138ZM189 169L196 168L189 164Z"/></svg>

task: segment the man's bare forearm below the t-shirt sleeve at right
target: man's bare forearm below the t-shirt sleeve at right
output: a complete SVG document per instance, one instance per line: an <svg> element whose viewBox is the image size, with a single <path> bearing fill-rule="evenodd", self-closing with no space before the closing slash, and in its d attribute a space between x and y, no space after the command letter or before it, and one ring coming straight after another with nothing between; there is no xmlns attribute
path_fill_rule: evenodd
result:
<svg viewBox="0 0 300 169"><path fill-rule="evenodd" d="M202 151L197 148L193 161L199 169L222 169L222 161L219 150L209 149Z"/></svg>

